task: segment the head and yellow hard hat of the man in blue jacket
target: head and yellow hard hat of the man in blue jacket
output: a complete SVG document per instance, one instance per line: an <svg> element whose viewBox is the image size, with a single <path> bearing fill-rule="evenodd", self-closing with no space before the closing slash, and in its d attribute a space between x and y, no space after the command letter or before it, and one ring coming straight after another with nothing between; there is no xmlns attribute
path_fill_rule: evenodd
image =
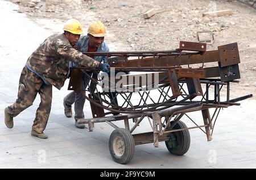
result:
<svg viewBox="0 0 256 180"><path fill-rule="evenodd" d="M98 48L104 42L106 36L106 29L104 24L100 21L93 22L88 28L89 46L92 48Z"/></svg>

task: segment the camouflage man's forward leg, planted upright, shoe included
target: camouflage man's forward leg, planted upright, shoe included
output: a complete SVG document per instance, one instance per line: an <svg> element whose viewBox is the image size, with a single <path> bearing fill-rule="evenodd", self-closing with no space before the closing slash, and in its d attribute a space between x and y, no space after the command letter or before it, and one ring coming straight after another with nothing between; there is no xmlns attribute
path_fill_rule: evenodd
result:
<svg viewBox="0 0 256 180"><path fill-rule="evenodd" d="M44 135L43 131L46 129L49 114L51 112L52 85L46 85L46 83L44 83L39 89L39 94L41 102L36 110L36 117L34 124L32 125L31 135L47 138L47 135Z"/></svg>

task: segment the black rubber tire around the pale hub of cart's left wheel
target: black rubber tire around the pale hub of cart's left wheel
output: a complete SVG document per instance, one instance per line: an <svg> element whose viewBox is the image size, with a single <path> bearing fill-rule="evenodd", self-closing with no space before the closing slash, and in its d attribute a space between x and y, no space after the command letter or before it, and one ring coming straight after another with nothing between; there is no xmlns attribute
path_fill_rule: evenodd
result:
<svg viewBox="0 0 256 180"><path fill-rule="evenodd" d="M113 141L117 136L123 140L125 146L122 156L117 156L113 149ZM119 164L127 164L133 158L134 150L135 143L130 131L127 131L124 128L118 128L111 133L109 137L109 152L115 162L118 162Z"/></svg>

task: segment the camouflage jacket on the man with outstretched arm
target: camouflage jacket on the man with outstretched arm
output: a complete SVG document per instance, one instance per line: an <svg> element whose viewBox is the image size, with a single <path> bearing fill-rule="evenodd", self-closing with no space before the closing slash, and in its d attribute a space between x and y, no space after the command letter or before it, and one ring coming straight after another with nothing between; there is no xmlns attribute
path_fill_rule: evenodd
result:
<svg viewBox="0 0 256 180"><path fill-rule="evenodd" d="M27 64L60 90L67 79L69 61L92 69L98 65L97 61L72 48L64 34L55 34L44 40L28 57Z"/></svg>

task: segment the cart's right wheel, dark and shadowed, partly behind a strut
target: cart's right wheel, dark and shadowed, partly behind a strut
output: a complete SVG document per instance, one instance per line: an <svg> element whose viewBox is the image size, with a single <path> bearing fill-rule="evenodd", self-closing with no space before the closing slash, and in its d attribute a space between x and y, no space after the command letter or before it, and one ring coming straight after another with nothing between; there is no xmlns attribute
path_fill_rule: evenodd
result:
<svg viewBox="0 0 256 180"><path fill-rule="evenodd" d="M187 128L185 123L178 121L173 129ZM188 152L190 146L190 135L189 131L177 131L170 133L170 139L166 141L166 147L170 153L181 156Z"/></svg>

